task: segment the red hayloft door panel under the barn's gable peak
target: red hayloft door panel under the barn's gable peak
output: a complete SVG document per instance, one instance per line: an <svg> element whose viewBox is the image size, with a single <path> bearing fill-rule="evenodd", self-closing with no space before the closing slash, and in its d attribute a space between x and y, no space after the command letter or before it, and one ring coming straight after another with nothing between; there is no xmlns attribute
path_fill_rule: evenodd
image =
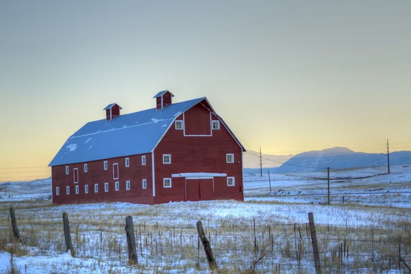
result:
<svg viewBox="0 0 411 274"><path fill-rule="evenodd" d="M184 113L186 135L211 135L210 111L197 104Z"/></svg>

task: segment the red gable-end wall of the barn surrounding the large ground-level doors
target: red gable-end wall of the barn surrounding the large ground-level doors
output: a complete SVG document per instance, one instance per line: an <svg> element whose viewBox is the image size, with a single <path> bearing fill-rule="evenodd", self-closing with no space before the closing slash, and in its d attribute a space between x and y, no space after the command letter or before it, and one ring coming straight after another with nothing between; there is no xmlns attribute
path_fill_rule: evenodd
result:
<svg viewBox="0 0 411 274"><path fill-rule="evenodd" d="M203 110L186 112L185 121L200 123L201 127L210 127L210 121L196 119L203 115ZM208 113L210 117L210 113ZM183 115L177 119L182 120ZM212 120L219 120L212 116ZM213 199L236 199L243 201L242 186L242 149L225 129L222 122L219 130L213 130L212 136L184 136L182 130L171 126L154 151L155 161L155 203L185 201L185 179L171 178L176 173L227 173L235 177L235 186L227 186L227 177L214 177ZM226 163L226 153L234 153L234 163ZM162 155L171 154L171 164L162 163ZM163 187L163 178L172 179L172 187Z"/></svg>

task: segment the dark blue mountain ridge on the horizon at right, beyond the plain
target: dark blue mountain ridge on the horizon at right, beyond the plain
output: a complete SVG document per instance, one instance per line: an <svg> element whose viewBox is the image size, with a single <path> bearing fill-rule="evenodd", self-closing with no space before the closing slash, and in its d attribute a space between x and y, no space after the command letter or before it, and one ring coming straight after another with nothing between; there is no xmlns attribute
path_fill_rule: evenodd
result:
<svg viewBox="0 0 411 274"><path fill-rule="evenodd" d="M299 173L330 169L383 166L387 164L385 153L355 152L345 147L333 147L322 151L308 151L295 155L281 166L270 169L273 173ZM411 151L390 153L390 164L411 164ZM263 172L266 172L266 169ZM259 169L245 169L245 173L259 173Z"/></svg>

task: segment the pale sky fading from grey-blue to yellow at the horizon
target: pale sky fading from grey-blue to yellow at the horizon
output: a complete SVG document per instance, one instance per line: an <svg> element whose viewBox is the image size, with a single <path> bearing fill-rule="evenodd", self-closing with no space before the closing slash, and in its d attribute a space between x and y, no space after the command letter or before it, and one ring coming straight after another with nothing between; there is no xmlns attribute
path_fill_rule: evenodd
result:
<svg viewBox="0 0 411 274"><path fill-rule="evenodd" d="M208 97L246 149L410 150L410 14L408 0L0 1L0 182L49 177L105 105L153 108L164 89Z"/></svg>

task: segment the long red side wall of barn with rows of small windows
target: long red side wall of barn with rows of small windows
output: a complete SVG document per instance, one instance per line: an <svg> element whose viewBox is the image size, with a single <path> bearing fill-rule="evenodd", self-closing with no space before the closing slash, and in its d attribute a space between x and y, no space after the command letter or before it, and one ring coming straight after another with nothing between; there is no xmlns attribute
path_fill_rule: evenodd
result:
<svg viewBox="0 0 411 274"><path fill-rule="evenodd" d="M108 170L104 170L103 160L87 162L88 172L84 172L84 163L69 164L69 174L66 166L53 166L51 177L53 185L53 203L90 203L95 201L127 201L132 203L152 203L153 183L151 153L146 156L146 165L141 162L142 155L129 156L129 167L125 167L125 158L108 159ZM119 179L113 178L113 164L119 164ZM74 184L73 169L79 171L79 183ZM142 179L147 179L147 189L142 189ZM130 181L130 190L126 190L126 181ZM109 190L104 191L104 183L108 182ZM115 182L120 189L115 190ZM84 186L88 184L88 193ZM95 184L99 192L95 193ZM79 186L79 194L75 194L75 186ZM55 195L55 187L60 187L60 195ZM70 186L70 194L66 195L66 186Z"/></svg>

